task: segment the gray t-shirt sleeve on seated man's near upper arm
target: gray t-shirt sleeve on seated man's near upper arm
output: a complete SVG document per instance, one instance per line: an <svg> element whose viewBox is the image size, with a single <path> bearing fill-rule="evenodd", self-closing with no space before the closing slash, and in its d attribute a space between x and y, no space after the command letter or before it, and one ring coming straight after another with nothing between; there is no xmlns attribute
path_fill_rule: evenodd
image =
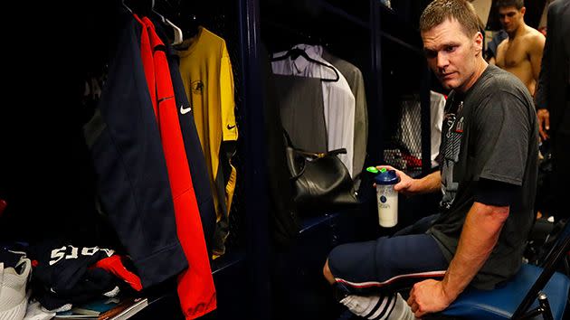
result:
<svg viewBox="0 0 570 320"><path fill-rule="evenodd" d="M478 141L473 156L482 163L480 176L508 184L522 185L527 164L531 121L525 102L512 93L498 91L474 112L472 141Z"/></svg>

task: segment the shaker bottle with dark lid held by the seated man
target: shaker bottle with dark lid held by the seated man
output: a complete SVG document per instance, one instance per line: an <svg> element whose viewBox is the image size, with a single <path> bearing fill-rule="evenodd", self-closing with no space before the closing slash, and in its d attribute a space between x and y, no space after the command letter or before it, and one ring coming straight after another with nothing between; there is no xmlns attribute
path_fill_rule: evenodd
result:
<svg viewBox="0 0 570 320"><path fill-rule="evenodd" d="M381 227L391 228L398 223L398 193L394 184L400 182L395 170L380 169L374 178L376 200L378 204L378 223Z"/></svg>

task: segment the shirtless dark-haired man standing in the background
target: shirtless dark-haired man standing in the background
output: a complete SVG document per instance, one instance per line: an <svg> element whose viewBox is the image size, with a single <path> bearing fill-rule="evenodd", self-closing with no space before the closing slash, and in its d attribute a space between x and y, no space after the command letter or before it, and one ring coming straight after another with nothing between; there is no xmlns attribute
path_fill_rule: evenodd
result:
<svg viewBox="0 0 570 320"><path fill-rule="evenodd" d="M516 75L534 97L546 37L525 24L523 0L499 0L496 6L508 38L500 42L496 58L489 63Z"/></svg>

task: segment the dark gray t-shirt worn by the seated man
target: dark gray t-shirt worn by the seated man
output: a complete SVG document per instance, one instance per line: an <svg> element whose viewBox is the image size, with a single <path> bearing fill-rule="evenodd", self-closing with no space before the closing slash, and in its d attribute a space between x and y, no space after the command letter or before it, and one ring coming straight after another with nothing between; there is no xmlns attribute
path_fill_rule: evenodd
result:
<svg viewBox="0 0 570 320"><path fill-rule="evenodd" d="M480 179L520 186L499 241L471 282L490 289L514 275L534 220L537 186L537 116L527 88L490 66L465 93L451 92L445 106L442 146L442 214L428 231L453 258Z"/></svg>

